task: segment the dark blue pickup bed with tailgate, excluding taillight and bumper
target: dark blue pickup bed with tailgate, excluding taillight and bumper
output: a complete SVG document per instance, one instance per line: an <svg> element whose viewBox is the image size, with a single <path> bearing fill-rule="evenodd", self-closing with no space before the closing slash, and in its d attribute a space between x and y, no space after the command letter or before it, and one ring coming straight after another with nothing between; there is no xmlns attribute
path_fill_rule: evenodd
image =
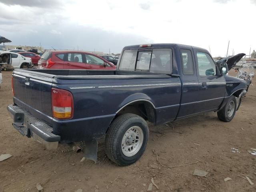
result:
<svg viewBox="0 0 256 192"><path fill-rule="evenodd" d="M66 142L102 136L116 113L131 101L151 103L156 124L172 121L181 95L178 76L110 70L18 69L13 73L13 86L14 104L52 126L53 133ZM72 119L52 117L52 88L72 93Z"/></svg>

